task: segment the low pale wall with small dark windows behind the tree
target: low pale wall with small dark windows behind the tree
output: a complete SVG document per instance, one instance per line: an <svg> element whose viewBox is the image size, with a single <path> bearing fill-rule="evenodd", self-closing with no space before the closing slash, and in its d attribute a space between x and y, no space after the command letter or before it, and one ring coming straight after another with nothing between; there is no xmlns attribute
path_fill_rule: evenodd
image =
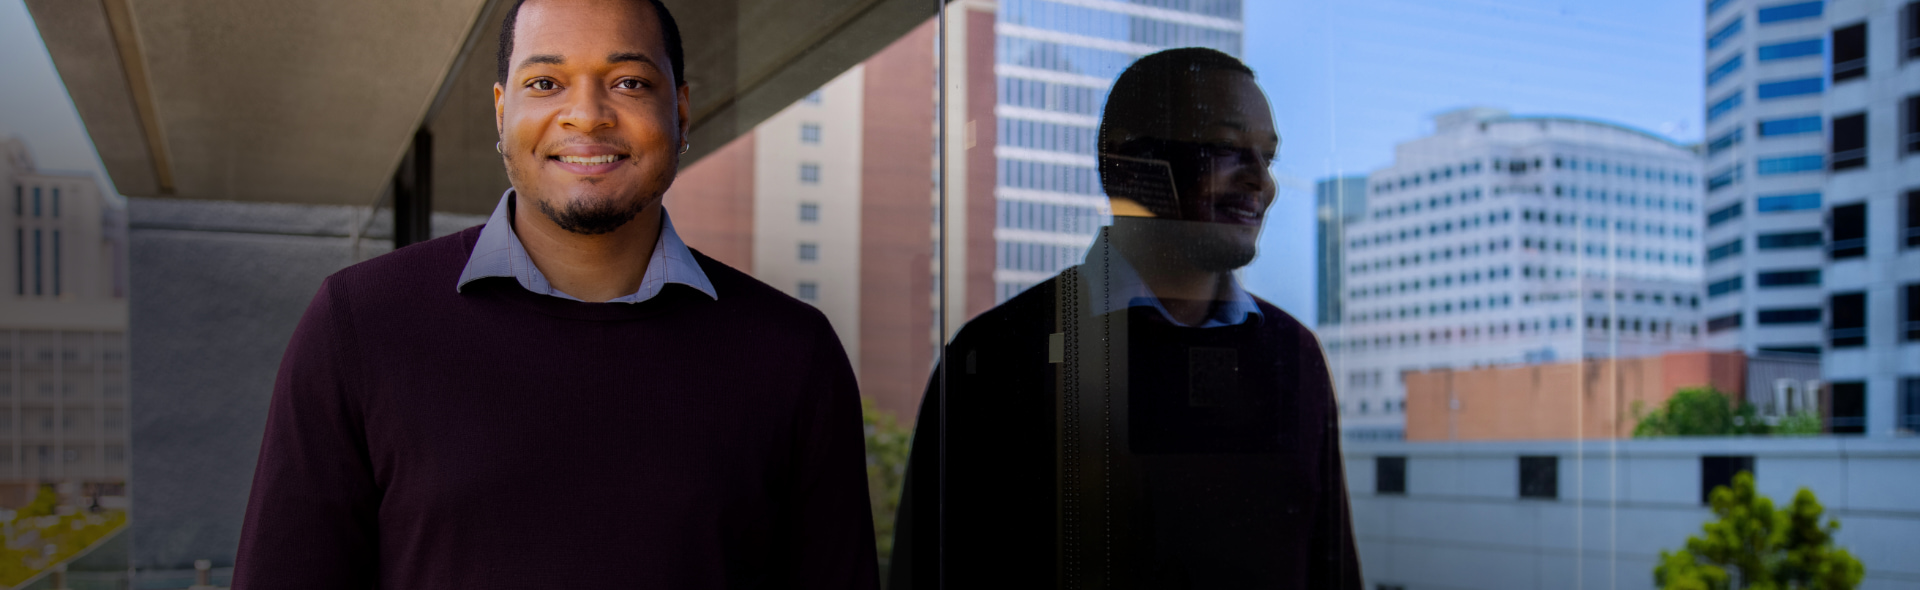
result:
<svg viewBox="0 0 1920 590"><path fill-rule="evenodd" d="M1405 494L1375 494L1379 455L1407 457ZM1519 498L1521 455L1559 457L1557 500ZM1914 438L1348 444L1367 588L1653 588L1659 552L1713 517L1701 455L1753 455L1774 505L1811 488L1866 565L1860 588L1920 588Z"/></svg>

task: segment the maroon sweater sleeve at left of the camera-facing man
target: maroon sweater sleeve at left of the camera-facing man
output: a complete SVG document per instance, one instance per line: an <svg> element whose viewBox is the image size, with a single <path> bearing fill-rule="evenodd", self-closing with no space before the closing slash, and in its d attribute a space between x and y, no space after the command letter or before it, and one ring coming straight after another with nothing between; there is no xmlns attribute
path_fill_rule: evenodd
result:
<svg viewBox="0 0 1920 590"><path fill-rule="evenodd" d="M349 306L326 279L280 359L232 588L372 588L374 482Z"/></svg>

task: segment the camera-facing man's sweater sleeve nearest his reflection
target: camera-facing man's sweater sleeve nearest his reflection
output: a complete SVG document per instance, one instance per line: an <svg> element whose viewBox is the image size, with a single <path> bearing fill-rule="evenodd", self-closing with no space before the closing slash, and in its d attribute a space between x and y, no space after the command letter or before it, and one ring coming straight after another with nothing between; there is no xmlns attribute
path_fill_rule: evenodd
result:
<svg viewBox="0 0 1920 590"><path fill-rule="evenodd" d="M774 586L879 588L860 388L839 336L831 329L822 332L797 417L799 465L787 517L793 527L783 538L791 578Z"/></svg>

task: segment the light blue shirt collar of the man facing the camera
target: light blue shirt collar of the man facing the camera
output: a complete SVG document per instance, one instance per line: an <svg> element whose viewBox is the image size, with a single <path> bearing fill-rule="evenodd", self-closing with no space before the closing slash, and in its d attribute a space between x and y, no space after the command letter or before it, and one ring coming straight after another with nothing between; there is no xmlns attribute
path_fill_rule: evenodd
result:
<svg viewBox="0 0 1920 590"><path fill-rule="evenodd" d="M547 277L534 267L534 259L526 256L526 246L520 244L520 236L513 233L513 188L507 188L499 196L499 204L493 206L493 217L488 217L486 227L480 229L480 238L474 240L474 252L467 256L467 267L461 271L459 284L453 290L465 290L467 283L474 283L486 277L513 277L522 288L555 296L563 300L574 300L570 294L553 288ZM639 304L660 294L668 283L680 283L691 286L712 300L720 296L714 294L714 286L707 281L707 273L701 271L699 261L693 259L693 252L687 244L680 240L674 233L674 221L660 209L660 240L653 244L653 258L647 259L647 275L639 279L639 290L607 300L609 304Z"/></svg>

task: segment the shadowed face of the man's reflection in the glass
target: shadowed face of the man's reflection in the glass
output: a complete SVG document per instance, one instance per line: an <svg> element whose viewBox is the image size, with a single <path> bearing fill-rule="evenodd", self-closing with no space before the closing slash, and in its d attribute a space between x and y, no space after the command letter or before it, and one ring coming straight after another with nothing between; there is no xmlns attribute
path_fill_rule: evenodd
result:
<svg viewBox="0 0 1920 590"><path fill-rule="evenodd" d="M1273 204L1267 167L1281 144L1267 96L1246 73L1206 71L1175 92L1169 117L1171 136L1137 140L1167 161L1179 196L1177 211L1156 211L1156 234L1208 271L1250 263Z"/></svg>

